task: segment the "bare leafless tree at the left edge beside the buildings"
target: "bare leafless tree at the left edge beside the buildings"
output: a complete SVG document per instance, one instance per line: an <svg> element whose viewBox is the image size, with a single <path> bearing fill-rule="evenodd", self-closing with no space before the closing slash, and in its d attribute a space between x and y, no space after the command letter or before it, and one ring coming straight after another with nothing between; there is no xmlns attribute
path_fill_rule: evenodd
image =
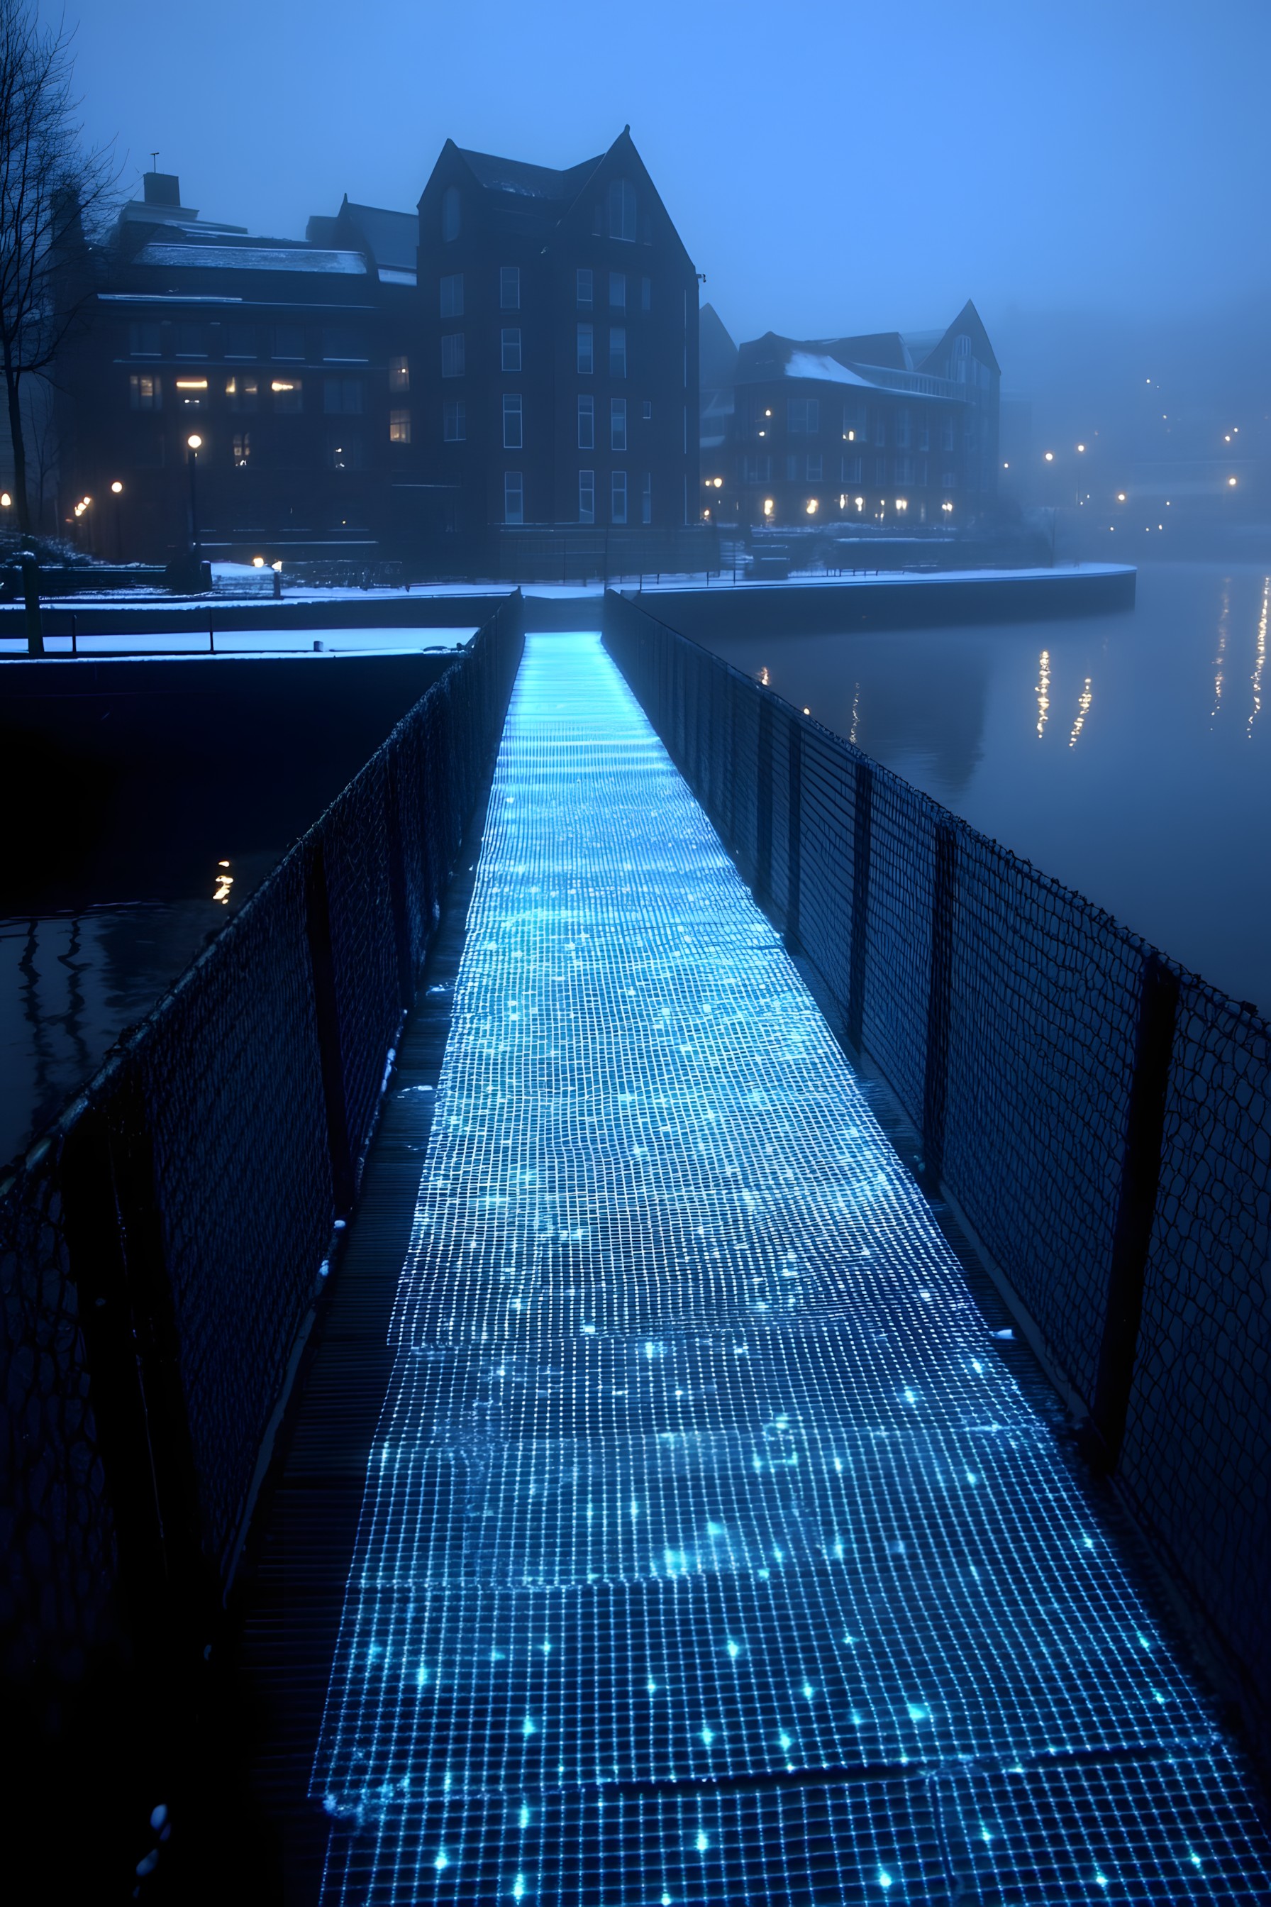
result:
<svg viewBox="0 0 1271 1907"><path fill-rule="evenodd" d="M84 248L114 187L109 151L86 151L74 122L71 40L65 23L40 25L34 0L0 0L0 362L23 534L23 381L50 372L84 313Z"/></svg>

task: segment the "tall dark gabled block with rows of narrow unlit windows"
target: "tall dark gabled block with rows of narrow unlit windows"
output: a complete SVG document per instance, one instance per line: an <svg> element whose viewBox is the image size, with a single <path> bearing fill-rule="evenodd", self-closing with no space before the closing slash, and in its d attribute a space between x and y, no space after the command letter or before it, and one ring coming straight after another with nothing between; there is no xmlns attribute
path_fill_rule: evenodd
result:
<svg viewBox="0 0 1271 1907"><path fill-rule="evenodd" d="M697 278L629 130L568 172L446 143L417 355L448 534L697 521Z"/></svg>

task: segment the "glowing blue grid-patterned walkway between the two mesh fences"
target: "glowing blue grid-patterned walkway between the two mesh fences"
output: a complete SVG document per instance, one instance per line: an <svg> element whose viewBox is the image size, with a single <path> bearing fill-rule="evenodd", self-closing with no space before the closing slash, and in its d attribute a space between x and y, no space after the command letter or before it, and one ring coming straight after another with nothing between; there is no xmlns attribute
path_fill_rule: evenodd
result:
<svg viewBox="0 0 1271 1907"><path fill-rule="evenodd" d="M324 1899L1265 1901L1250 1794L595 637L532 637Z"/></svg>

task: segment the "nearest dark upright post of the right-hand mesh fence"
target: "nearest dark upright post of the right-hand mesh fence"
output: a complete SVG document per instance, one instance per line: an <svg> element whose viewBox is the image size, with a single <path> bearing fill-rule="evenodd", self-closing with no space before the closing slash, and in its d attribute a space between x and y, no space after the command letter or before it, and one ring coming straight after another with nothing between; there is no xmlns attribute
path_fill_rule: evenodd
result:
<svg viewBox="0 0 1271 1907"><path fill-rule="evenodd" d="M1126 1434L1134 1358L1143 1316L1147 1249L1160 1190L1164 1100L1170 1085L1176 1024L1178 974L1166 967L1159 954L1145 954L1113 1257L1107 1272L1107 1310L1090 1411L1096 1434L1092 1457L1107 1472L1117 1468Z"/></svg>

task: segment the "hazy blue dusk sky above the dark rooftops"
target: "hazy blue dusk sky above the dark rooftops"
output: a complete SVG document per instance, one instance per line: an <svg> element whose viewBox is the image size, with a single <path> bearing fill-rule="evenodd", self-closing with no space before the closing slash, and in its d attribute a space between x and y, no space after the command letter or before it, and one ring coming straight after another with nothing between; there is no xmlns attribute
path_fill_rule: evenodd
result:
<svg viewBox="0 0 1271 1907"><path fill-rule="evenodd" d="M991 332L1134 326L1271 278L1271 0L82 0L76 46L124 183L158 147L282 236L345 191L414 206L448 135L572 166L631 122L737 338L968 296Z"/></svg>

